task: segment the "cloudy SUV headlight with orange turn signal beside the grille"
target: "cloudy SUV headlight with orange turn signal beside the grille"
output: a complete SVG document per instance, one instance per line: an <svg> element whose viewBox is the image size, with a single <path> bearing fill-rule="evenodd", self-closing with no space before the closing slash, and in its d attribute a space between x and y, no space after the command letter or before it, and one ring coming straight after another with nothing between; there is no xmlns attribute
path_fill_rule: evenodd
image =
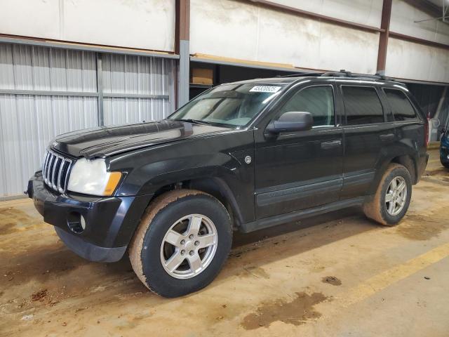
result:
<svg viewBox="0 0 449 337"><path fill-rule="evenodd" d="M70 172L67 190L109 196L119 185L121 172L107 172L104 159L78 159Z"/></svg>

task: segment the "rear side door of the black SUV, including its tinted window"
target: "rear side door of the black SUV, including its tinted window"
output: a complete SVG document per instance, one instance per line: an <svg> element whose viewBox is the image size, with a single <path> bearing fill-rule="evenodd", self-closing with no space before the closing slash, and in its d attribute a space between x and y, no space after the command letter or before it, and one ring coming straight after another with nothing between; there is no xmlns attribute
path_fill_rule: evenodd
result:
<svg viewBox="0 0 449 337"><path fill-rule="evenodd" d="M343 84L339 89L346 115L341 199L349 199L368 194L382 152L396 142L396 131L374 83Z"/></svg>

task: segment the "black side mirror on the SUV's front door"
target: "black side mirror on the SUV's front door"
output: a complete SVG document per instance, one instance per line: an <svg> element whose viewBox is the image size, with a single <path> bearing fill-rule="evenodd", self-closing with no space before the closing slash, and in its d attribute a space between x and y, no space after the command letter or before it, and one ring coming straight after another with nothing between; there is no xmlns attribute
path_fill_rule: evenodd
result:
<svg viewBox="0 0 449 337"><path fill-rule="evenodd" d="M311 116L310 112L290 111L281 114L276 121L271 121L265 131L270 134L307 131L313 125L314 117Z"/></svg>

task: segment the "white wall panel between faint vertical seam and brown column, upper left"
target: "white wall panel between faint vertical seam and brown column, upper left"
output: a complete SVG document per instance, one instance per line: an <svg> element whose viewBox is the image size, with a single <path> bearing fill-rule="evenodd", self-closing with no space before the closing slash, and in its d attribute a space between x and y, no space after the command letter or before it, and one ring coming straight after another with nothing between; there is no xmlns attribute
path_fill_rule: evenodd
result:
<svg viewBox="0 0 449 337"><path fill-rule="evenodd" d="M174 51L175 0L64 1L68 41Z"/></svg>

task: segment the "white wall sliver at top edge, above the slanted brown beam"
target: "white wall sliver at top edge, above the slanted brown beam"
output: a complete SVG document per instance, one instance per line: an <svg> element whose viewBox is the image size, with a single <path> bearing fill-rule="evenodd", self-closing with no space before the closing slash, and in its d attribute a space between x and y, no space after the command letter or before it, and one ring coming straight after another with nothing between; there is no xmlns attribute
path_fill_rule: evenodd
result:
<svg viewBox="0 0 449 337"><path fill-rule="evenodd" d="M303 11L380 27L382 0L271 0Z"/></svg>

